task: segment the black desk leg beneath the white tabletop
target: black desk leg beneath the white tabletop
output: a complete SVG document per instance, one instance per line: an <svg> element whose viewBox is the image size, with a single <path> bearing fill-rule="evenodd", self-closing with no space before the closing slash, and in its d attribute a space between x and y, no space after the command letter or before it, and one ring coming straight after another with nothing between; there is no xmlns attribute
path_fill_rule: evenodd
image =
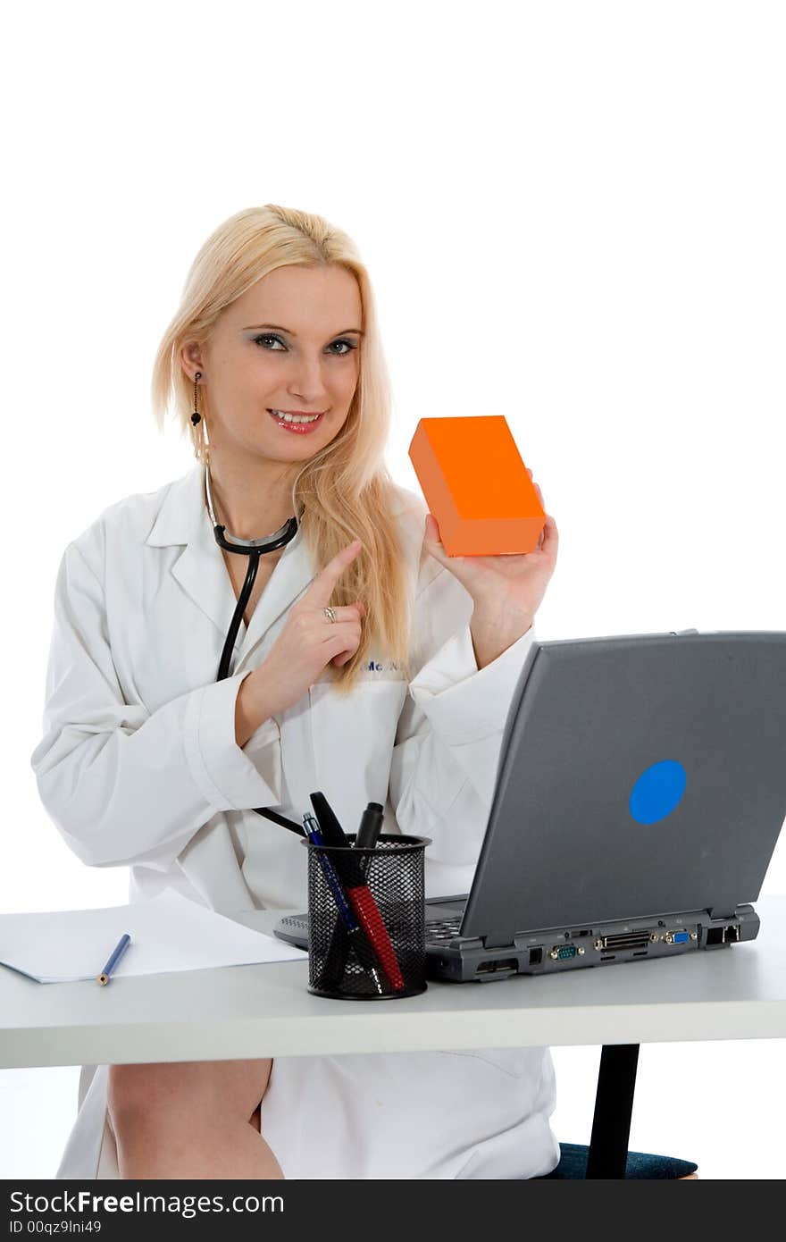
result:
<svg viewBox="0 0 786 1242"><path fill-rule="evenodd" d="M625 1177L637 1064L637 1043L603 1045L586 1177Z"/></svg>

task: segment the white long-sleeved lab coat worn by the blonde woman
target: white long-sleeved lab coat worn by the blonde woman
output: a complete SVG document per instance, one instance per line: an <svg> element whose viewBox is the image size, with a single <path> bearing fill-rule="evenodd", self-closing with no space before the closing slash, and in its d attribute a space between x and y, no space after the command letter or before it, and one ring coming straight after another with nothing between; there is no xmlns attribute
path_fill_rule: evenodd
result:
<svg viewBox="0 0 786 1242"><path fill-rule="evenodd" d="M241 622L222 682L235 596L201 466L111 505L66 548L31 764L73 852L91 867L130 868L130 902L176 891L222 914L307 909L299 838L253 807L299 821L314 790L348 831L366 802L381 802L382 831L432 838L427 894L468 891L534 633L478 671L472 600L422 548L423 501L397 494L413 679L374 652L349 699L323 674L242 749L238 687L317 573L300 533L247 630ZM493 1045L493 1025L488 1036ZM106 1088L107 1067L84 1066L57 1177L118 1176ZM291 1179L523 1177L558 1161L554 1104L545 1048L278 1057L262 1131Z"/></svg>

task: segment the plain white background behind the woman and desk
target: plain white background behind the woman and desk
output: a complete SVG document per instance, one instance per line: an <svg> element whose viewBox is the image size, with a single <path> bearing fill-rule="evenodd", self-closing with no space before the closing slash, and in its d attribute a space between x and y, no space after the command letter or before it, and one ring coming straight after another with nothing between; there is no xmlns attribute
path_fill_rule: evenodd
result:
<svg viewBox="0 0 786 1242"><path fill-rule="evenodd" d="M540 638L786 628L782 5L42 4L5 36L0 909L127 899L30 769L55 574L192 463L150 366L242 207L360 246L400 483L420 417L505 415L560 532ZM762 892L785 891L781 840ZM631 1148L782 1176L782 1057L642 1047ZM562 1140L589 1141L597 1059L555 1051ZM0 1071L0 1177L53 1175L77 1074Z"/></svg>

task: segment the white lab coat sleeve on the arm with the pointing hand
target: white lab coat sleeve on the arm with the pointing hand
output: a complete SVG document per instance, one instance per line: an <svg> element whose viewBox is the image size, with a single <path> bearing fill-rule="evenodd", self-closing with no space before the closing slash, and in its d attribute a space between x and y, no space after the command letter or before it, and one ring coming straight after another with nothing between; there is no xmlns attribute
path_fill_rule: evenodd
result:
<svg viewBox="0 0 786 1242"><path fill-rule="evenodd" d="M248 672L154 712L125 703L102 585L76 543L68 545L55 589L43 737L31 766L43 806L84 863L168 869L217 812L278 805L276 720L248 739L255 763L235 739L235 700Z"/></svg>

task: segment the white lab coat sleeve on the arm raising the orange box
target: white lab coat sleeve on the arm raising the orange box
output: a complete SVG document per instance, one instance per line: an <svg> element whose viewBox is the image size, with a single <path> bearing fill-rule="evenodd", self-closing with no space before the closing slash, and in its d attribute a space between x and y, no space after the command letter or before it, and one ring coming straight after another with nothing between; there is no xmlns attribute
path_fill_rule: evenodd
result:
<svg viewBox="0 0 786 1242"><path fill-rule="evenodd" d="M535 638L530 626L478 669L472 607L469 594L445 566L416 596L415 671L390 773L390 800L401 832L431 837L426 861L437 863L443 876L451 867L474 867L478 861L508 709ZM441 892L451 888L448 881ZM461 891L461 879L453 891Z"/></svg>

